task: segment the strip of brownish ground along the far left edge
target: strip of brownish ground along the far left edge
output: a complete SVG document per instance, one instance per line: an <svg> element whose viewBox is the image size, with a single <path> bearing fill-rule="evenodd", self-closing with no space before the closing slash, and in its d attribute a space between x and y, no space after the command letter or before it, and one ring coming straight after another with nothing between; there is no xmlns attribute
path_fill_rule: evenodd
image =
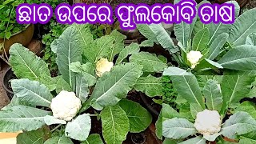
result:
<svg viewBox="0 0 256 144"><path fill-rule="evenodd" d="M0 61L1 62L1 61ZM1 62L0 64L0 109L10 103L10 99L6 95L6 90L2 87L3 74L7 70L8 66Z"/></svg>

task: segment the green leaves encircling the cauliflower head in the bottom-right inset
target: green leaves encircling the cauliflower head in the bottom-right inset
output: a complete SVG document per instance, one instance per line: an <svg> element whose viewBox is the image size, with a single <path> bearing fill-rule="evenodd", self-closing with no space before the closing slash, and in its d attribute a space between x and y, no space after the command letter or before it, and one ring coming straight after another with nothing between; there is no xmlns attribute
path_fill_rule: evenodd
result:
<svg viewBox="0 0 256 144"><path fill-rule="evenodd" d="M200 85L198 83L200 78ZM224 75L224 76L199 76L194 75L171 75L170 80L173 82L178 95L186 98L190 103L190 112L183 113L186 108L180 107L177 111L174 106L163 104L162 107L162 134L166 138L182 139L186 138L182 143L198 142L205 143L207 141L215 141L216 138L237 139L241 138L241 142L254 142L254 138L248 138L246 134L254 133L256 130L255 105L252 102L242 102L242 98L248 97L254 76L243 75ZM170 82L169 80L169 82ZM213 135L203 134L203 137L190 137L191 134L199 133L191 125L196 118L198 112L204 110L200 103L203 94L203 105L207 110L218 110L221 115L221 130ZM194 96L194 97L193 97ZM198 97L200 96L200 97ZM197 101L195 101L198 99ZM179 100L179 102L181 102ZM185 103L187 103L185 102ZM198 103L199 102L199 103ZM178 103L178 97L175 103ZM182 102L184 103L184 102ZM185 105L183 105L185 106ZM233 115L230 115L233 114ZM192 115L188 117L188 115ZM158 129L159 126L157 127ZM194 131L195 130L195 131Z"/></svg>

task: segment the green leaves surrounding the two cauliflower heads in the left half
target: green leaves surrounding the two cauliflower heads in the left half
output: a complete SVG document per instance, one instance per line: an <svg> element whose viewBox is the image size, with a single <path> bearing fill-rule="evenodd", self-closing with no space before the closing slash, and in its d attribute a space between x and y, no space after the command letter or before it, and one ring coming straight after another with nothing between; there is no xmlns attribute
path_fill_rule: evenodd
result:
<svg viewBox="0 0 256 144"><path fill-rule="evenodd" d="M140 54L136 44L127 46L130 49L123 51L124 38L126 37L114 30L110 35L94 39L90 25L69 26L58 39L49 43L50 49L57 55L58 69L62 74L54 78L50 77L50 70L42 58L21 45L11 46L10 63L14 74L22 79L11 82L15 96L13 102L0 111L0 131L35 130L27 134L27 138L33 140L37 138L34 135L38 136L36 130L42 126L59 124L46 143L72 143L71 138L81 142L91 142L97 138L97 142L101 142L98 135L89 136L91 116L101 119L103 138L107 143L121 144L128 132L146 130L152 122L150 113L138 103L124 99L143 74L143 67L139 63L123 62L130 54ZM90 50L94 50L96 55ZM114 61L115 65L110 71L105 72L102 77L96 76L98 59L108 58L111 61L120 53L118 62ZM166 67L166 58L141 54L149 61L161 63L161 70ZM153 75L158 70L150 71ZM146 80L161 84L161 78L151 76ZM82 102L82 109L70 122L54 118L49 109L52 98L62 90L73 91ZM148 86L146 93L154 95L156 89L150 90ZM26 106L27 104L30 106ZM85 114L84 111L90 106L102 111L100 114Z"/></svg>

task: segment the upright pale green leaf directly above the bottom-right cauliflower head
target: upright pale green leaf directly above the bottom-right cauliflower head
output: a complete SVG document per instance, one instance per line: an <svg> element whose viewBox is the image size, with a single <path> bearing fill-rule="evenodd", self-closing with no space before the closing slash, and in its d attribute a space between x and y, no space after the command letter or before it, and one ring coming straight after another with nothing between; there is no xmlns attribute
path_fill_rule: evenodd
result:
<svg viewBox="0 0 256 144"><path fill-rule="evenodd" d="M203 88L203 94L206 98L206 106L209 110L222 109L222 90L218 82L214 80L208 80Z"/></svg>

